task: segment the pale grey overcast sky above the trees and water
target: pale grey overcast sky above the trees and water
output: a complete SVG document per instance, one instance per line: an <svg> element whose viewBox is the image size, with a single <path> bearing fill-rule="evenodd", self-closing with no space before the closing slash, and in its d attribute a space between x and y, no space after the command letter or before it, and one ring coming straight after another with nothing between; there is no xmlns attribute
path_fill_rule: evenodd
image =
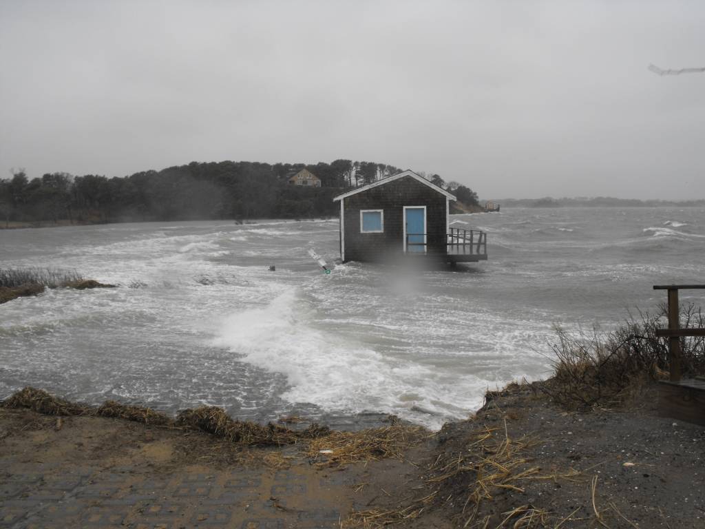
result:
<svg viewBox="0 0 705 529"><path fill-rule="evenodd" d="M191 161L705 198L699 1L0 0L0 177Z"/></svg>

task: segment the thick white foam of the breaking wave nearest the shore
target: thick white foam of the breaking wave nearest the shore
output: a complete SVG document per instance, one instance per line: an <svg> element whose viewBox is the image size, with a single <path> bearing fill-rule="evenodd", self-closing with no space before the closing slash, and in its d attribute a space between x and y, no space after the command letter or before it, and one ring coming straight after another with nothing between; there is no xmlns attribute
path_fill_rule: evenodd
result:
<svg viewBox="0 0 705 529"><path fill-rule="evenodd" d="M314 311L296 296L295 288L288 288L264 307L226 317L214 344L242 355L247 363L286 375L289 388L282 397L293 403L397 413L431 427L465 416L479 404L484 380L470 376L448 384L447 375L432 367L387 358L314 327L313 319ZM408 398L412 393L417 399Z"/></svg>

